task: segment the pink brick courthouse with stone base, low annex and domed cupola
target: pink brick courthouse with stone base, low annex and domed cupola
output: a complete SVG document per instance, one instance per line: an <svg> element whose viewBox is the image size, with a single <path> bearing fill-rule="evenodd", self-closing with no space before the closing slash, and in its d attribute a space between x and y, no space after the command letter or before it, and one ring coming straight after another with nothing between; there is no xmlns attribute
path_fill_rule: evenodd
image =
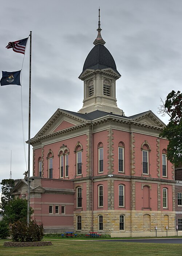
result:
<svg viewBox="0 0 182 256"><path fill-rule="evenodd" d="M33 218L45 232L98 231L111 237L175 234L174 167L165 124L152 111L125 116L116 104L120 74L100 21L79 79L78 112L58 109L31 139ZM13 194L27 197L27 181Z"/></svg>

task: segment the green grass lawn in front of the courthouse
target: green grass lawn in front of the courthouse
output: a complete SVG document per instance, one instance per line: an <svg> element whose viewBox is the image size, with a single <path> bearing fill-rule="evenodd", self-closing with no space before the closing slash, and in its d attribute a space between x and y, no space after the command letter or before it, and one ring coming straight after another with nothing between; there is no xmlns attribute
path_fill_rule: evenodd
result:
<svg viewBox="0 0 182 256"><path fill-rule="evenodd" d="M8 240L0 240L1 256L130 256L130 255L182 255L181 244L152 244L132 242L108 242L108 241L81 241L81 240L51 240L52 246L40 247L11 247L3 246Z"/></svg>

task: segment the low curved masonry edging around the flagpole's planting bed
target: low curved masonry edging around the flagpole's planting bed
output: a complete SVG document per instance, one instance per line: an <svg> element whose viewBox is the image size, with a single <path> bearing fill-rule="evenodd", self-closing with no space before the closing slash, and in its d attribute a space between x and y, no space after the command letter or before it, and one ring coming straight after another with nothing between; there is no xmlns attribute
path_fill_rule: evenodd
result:
<svg viewBox="0 0 182 256"><path fill-rule="evenodd" d="M51 241L40 242L4 242L5 247L28 247L28 246L46 246L52 245Z"/></svg>

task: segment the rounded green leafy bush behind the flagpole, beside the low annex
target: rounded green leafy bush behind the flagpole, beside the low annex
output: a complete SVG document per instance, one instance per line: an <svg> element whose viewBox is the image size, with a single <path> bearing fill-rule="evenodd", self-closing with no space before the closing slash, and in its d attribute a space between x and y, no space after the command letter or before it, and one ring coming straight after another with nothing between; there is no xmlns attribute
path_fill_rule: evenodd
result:
<svg viewBox="0 0 182 256"><path fill-rule="evenodd" d="M33 208L30 207L30 216L33 214ZM8 202L4 208L4 219L7 223L13 223L18 220L27 219L27 200L14 198Z"/></svg>

